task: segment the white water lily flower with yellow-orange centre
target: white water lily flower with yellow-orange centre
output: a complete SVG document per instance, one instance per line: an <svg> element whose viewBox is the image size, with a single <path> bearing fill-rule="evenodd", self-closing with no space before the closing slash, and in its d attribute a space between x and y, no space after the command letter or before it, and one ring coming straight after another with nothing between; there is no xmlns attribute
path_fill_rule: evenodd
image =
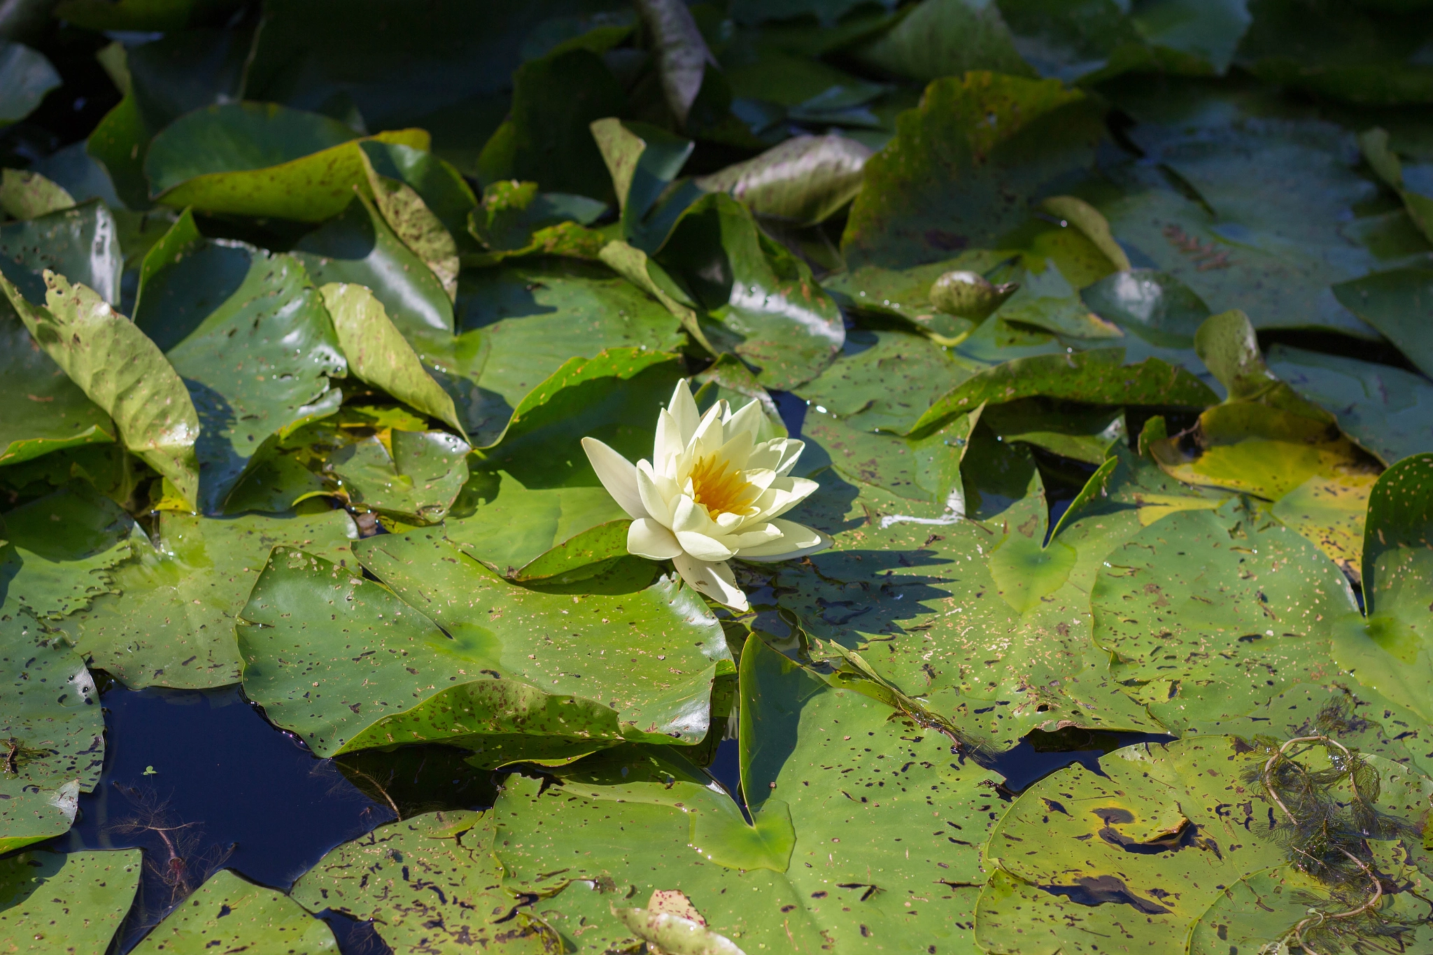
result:
<svg viewBox="0 0 1433 955"><path fill-rule="evenodd" d="M651 461L633 465L596 438L583 438L602 487L632 515L628 551L671 560L688 584L737 610L747 594L727 563L802 557L831 538L781 515L818 484L791 477L804 442L774 431L757 401L732 411L696 409L686 381L656 417Z"/></svg>

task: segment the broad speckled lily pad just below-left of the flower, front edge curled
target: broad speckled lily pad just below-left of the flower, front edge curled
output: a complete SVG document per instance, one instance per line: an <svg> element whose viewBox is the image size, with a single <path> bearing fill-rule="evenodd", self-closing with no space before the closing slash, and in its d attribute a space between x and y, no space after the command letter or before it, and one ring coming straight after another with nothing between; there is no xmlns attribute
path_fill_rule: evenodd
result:
<svg viewBox="0 0 1433 955"><path fill-rule="evenodd" d="M484 736L504 733L596 746L705 736L711 682L718 663L729 666L731 657L716 621L689 591L662 581L620 596L546 594L504 581L434 531L374 540L360 560L397 596L325 560L279 548L239 623L245 692L315 752L396 742L481 745ZM454 593L466 600L446 603ZM342 616L315 619L311 627L294 616L308 619L304 607ZM576 623L567 620L573 610L592 614L577 637L588 651L580 672L550 643ZM533 631L494 627L504 614ZM632 644L635 633L651 636ZM340 650L330 660L324 646L348 647L354 656ZM643 661L648 679L633 679L633 660Z"/></svg>

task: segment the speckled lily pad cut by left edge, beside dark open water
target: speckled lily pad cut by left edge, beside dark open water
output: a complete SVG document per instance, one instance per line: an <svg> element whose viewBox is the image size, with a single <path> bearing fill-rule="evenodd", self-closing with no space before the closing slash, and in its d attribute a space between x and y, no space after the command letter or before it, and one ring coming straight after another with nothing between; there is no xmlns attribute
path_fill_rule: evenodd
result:
<svg viewBox="0 0 1433 955"><path fill-rule="evenodd" d="M64 833L79 795L95 790L105 763L105 716L85 661L16 610L7 600L0 627L6 687L0 852Z"/></svg>

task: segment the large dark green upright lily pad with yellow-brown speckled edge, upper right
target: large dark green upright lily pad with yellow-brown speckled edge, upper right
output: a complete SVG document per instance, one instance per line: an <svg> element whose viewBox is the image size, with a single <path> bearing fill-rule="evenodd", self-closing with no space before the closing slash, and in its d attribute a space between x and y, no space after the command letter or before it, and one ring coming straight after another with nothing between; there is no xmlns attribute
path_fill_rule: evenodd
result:
<svg viewBox="0 0 1433 955"><path fill-rule="evenodd" d="M841 251L851 265L904 268L989 246L1040 192L1086 169L1102 135L1098 107L1058 80L939 79L866 165Z"/></svg>

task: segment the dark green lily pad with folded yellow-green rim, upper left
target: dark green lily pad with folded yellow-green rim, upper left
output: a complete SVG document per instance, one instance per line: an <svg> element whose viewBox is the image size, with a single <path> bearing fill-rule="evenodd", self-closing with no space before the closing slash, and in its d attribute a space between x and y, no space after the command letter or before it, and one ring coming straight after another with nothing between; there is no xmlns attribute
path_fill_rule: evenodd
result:
<svg viewBox="0 0 1433 955"><path fill-rule="evenodd" d="M149 145L149 195L182 209L322 222L344 210L367 180L358 135L338 120L267 103L195 110ZM418 129L378 142L427 149Z"/></svg>

